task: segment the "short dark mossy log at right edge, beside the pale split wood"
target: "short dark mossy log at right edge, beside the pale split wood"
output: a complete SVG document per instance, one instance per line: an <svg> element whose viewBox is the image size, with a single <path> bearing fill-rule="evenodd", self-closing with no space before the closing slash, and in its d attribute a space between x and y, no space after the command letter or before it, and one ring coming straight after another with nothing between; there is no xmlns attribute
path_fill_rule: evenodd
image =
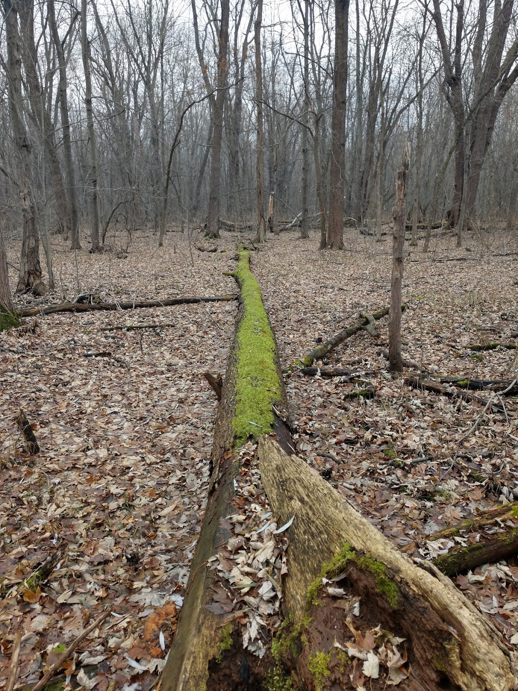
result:
<svg viewBox="0 0 518 691"><path fill-rule="evenodd" d="M518 554L518 502L484 511L434 533L429 540L461 538L434 559L446 576Z"/></svg>

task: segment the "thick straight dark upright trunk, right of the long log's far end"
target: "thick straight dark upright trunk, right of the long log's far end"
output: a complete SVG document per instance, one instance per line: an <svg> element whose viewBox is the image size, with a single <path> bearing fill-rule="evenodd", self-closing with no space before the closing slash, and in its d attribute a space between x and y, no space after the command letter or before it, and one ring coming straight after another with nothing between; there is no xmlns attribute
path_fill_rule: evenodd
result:
<svg viewBox="0 0 518 691"><path fill-rule="evenodd" d="M329 173L329 249L343 249L343 189L345 169L345 99L347 97L347 32L349 0L335 0L335 48L331 171Z"/></svg>

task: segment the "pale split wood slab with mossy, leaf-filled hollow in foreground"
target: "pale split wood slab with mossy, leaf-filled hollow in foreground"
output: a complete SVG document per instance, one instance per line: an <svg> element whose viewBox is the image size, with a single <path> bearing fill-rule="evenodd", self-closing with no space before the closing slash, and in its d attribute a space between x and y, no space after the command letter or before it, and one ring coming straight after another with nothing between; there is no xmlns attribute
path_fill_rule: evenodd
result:
<svg viewBox="0 0 518 691"><path fill-rule="evenodd" d="M356 638L354 645L372 651L373 641L365 645L367 630L378 625L398 637L401 659L410 663L401 691L514 687L500 635L437 567L421 567L394 549L316 471L271 437L260 439L258 453L275 517L284 522L295 515L283 587L289 624L272 650L291 668L296 688L358 688L350 676L358 673L358 660L347 654L350 641ZM325 585L323 576L329 579ZM377 677L364 678L365 688L385 689L389 674L380 665Z"/></svg>

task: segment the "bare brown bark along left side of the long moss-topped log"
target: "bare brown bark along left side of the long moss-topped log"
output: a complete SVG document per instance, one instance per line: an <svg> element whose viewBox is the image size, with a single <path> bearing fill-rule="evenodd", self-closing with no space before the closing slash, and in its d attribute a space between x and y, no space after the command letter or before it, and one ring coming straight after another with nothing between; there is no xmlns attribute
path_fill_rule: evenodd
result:
<svg viewBox="0 0 518 691"><path fill-rule="evenodd" d="M260 688L256 684L260 683L259 680L262 679L267 670L265 658L261 660L253 656L247 650L243 650L240 644L232 647L228 664L213 664L218 653L222 627L226 622L223 616L213 614L205 606L213 603L211 585L217 582L215 569L207 569L207 560L217 554L222 545L225 545L231 537L220 520L236 513L236 506L232 502L236 497L234 481L240 473L240 462L238 450L234 448L236 439L233 419L236 415L236 382L240 376L238 375L238 361L242 357L238 346L238 333L248 309L246 296L240 297L236 317L236 339L229 355L222 385L221 401L215 417L211 455L212 473L207 509L204 513L202 531L191 562L191 571L178 629L161 677L162 691L198 691L200 688L215 691L227 688L242 690ZM258 338L262 338L262 333L258 332L257 335ZM247 351L246 357L249 364L250 359L254 357L254 348ZM282 375L280 375L276 355L272 354L272 357L275 359L274 368L277 370L281 394L281 399L276 405L278 405L279 410L282 410L285 409L286 401L282 387ZM258 382L258 386L265 386L265 384ZM248 419L253 421L256 417L256 411L248 408L247 412L249 412ZM234 621L232 625L236 625L236 622ZM226 675L231 676L233 671L235 671L236 677L241 679L241 685L229 685L226 681L222 681L222 679L227 679Z"/></svg>

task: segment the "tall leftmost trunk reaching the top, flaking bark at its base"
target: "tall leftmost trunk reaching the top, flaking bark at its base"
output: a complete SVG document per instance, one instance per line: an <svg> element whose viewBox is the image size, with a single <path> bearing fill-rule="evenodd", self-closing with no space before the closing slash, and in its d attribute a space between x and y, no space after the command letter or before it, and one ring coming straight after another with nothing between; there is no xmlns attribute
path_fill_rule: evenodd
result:
<svg viewBox="0 0 518 691"><path fill-rule="evenodd" d="M41 265L39 263L39 236L32 194L32 147L23 120L21 44L16 3L11 0L3 0L3 14L8 52L9 109L18 153L17 173L23 219L17 292L30 290L37 295L43 295L47 292L47 287L41 280Z"/></svg>

